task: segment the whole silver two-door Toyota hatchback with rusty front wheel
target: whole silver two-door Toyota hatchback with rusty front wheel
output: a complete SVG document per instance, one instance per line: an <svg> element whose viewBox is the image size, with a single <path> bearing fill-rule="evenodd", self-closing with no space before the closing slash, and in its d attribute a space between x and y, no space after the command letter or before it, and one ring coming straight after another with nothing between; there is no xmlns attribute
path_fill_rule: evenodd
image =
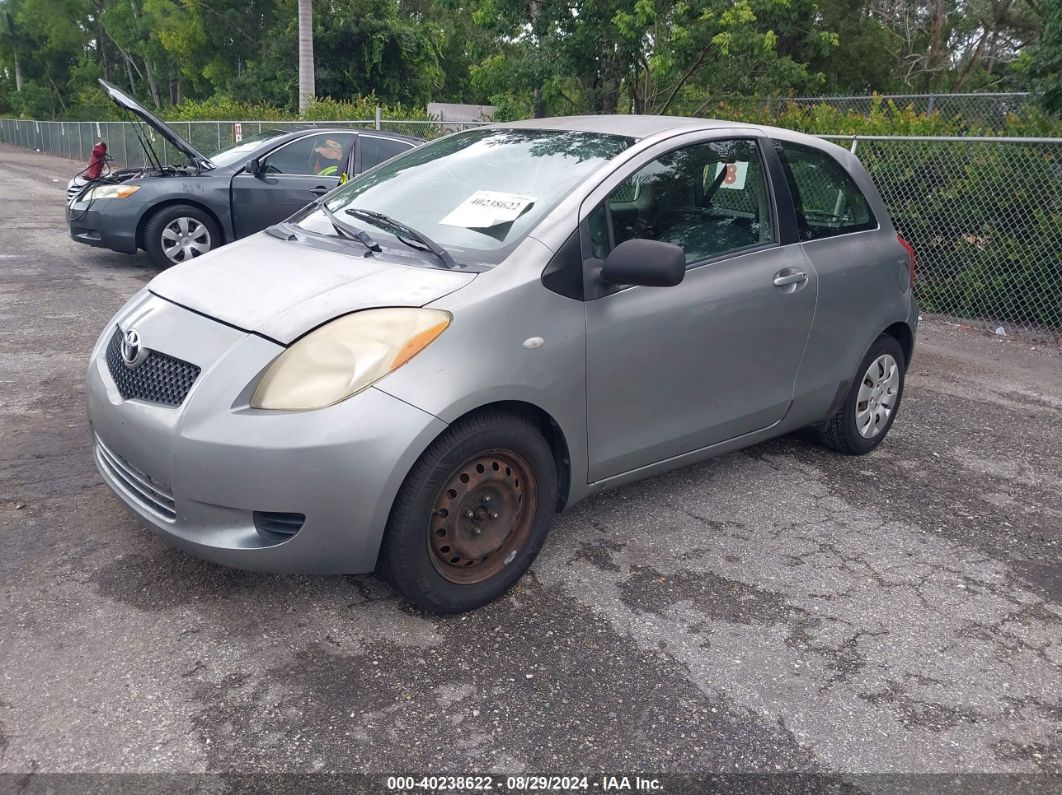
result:
<svg viewBox="0 0 1062 795"><path fill-rule="evenodd" d="M470 609L553 515L811 429L873 450L914 253L849 152L725 121L450 135L157 276L88 370L96 463L221 564Z"/></svg>

